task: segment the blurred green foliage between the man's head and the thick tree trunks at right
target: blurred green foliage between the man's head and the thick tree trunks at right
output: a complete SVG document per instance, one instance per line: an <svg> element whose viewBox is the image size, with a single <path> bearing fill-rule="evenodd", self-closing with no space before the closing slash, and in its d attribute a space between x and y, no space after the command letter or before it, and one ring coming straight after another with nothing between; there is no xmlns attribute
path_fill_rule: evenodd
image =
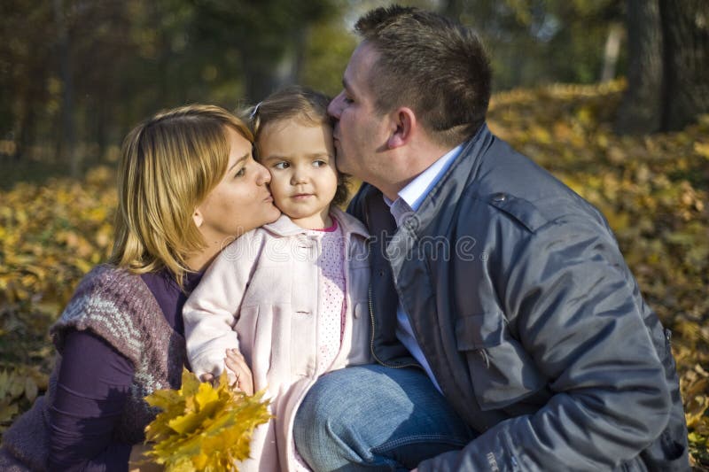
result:
<svg viewBox="0 0 709 472"><path fill-rule="evenodd" d="M624 21L620 0L448 0L448 4L460 4L452 10L458 10L460 20L487 43L498 90L598 81L609 28Z"/></svg>

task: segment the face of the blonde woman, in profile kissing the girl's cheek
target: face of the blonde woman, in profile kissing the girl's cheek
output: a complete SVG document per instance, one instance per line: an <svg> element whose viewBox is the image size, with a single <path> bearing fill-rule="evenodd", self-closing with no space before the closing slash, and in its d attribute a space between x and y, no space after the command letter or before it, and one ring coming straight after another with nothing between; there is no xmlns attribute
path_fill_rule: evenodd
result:
<svg viewBox="0 0 709 472"><path fill-rule="evenodd" d="M231 128L226 128L226 136L230 143L227 172L194 213L206 244L222 247L246 231L276 221L281 214L267 186L269 172L253 160L252 144Z"/></svg>

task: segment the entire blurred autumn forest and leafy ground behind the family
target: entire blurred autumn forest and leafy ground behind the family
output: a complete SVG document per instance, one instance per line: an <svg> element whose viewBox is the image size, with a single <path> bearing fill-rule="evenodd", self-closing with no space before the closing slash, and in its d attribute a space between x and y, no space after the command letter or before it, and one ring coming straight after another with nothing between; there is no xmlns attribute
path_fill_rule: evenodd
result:
<svg viewBox="0 0 709 472"><path fill-rule="evenodd" d="M112 242L114 164L139 120L335 94L365 0L0 3L0 434L46 387L47 328ZM599 207L674 329L709 464L709 2L420 0L482 36L490 126ZM405 51L402 51L405 53Z"/></svg>

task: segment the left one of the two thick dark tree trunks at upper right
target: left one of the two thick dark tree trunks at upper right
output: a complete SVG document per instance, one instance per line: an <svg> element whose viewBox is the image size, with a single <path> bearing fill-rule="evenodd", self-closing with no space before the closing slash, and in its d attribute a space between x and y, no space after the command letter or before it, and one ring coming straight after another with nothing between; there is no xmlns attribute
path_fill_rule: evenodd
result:
<svg viewBox="0 0 709 472"><path fill-rule="evenodd" d="M701 1L701 0L698 0ZM658 0L627 1L627 90L616 119L619 134L654 133L662 125L663 38Z"/></svg>

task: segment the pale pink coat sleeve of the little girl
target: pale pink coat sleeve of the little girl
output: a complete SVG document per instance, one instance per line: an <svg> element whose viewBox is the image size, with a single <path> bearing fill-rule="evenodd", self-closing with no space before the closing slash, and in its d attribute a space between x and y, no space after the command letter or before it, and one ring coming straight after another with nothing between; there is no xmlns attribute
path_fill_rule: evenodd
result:
<svg viewBox="0 0 709 472"><path fill-rule="evenodd" d="M257 259L254 233L240 236L206 269L183 307L187 357L196 375L220 375L227 349L238 348L234 326Z"/></svg>

